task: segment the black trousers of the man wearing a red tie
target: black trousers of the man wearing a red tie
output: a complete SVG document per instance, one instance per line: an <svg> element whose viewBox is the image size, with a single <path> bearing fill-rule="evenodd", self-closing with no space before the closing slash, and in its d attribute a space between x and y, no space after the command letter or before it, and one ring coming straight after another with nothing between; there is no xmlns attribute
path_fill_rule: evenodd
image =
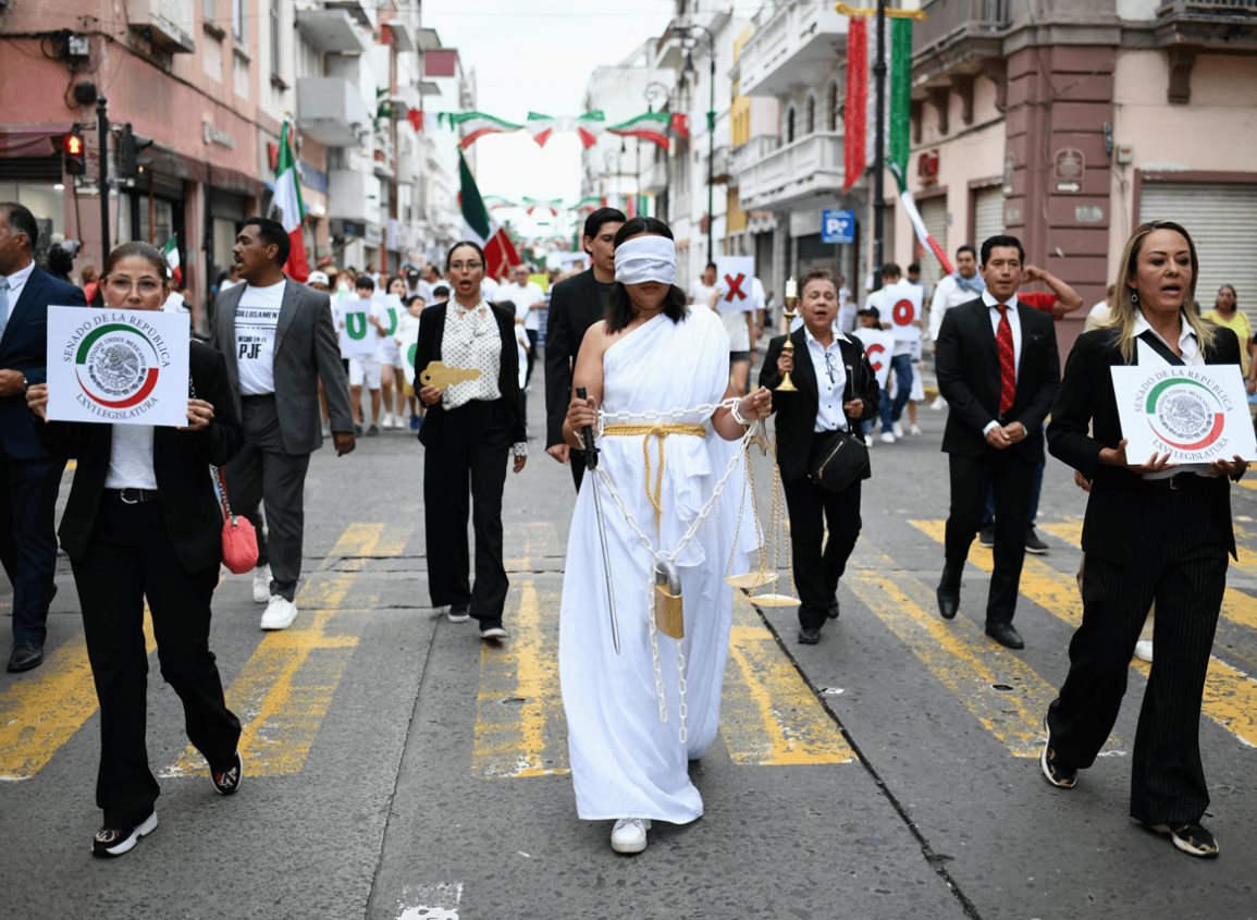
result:
<svg viewBox="0 0 1257 920"><path fill-rule="evenodd" d="M1012 622L1017 589L1026 562L1026 522L1035 489L1037 465L1008 450L991 449L980 457L949 454L952 508L947 519L944 558L947 572L959 588L969 547L982 528L987 495L996 496L994 572L987 596L987 622Z"/></svg>

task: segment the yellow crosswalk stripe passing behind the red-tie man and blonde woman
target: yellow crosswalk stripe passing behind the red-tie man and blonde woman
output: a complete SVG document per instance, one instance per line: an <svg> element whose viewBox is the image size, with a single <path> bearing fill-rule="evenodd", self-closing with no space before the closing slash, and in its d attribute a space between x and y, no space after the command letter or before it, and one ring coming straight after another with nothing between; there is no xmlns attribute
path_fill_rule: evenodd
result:
<svg viewBox="0 0 1257 920"><path fill-rule="evenodd" d="M914 520L911 524L935 542L944 542L945 522ZM970 553L969 563L988 573L994 568L992 557L984 553ZM1057 572L1040 559L1026 559L1021 593L1071 626L1082 622L1082 600L1073 576ZM1204 714L1244 744L1257 747L1257 680L1210 657Z"/></svg>

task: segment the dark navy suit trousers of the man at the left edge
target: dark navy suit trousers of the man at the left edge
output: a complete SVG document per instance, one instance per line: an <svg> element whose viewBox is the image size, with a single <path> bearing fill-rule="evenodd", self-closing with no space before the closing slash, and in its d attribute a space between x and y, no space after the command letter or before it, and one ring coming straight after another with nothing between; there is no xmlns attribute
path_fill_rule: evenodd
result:
<svg viewBox="0 0 1257 920"><path fill-rule="evenodd" d="M18 460L0 447L0 563L13 584L14 642L43 642L48 635L64 469L64 460Z"/></svg>

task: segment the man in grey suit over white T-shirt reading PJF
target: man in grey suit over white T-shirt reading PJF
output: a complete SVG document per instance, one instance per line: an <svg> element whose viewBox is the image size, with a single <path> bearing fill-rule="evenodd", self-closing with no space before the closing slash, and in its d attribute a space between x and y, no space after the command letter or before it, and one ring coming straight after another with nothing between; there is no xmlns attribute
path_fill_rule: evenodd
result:
<svg viewBox="0 0 1257 920"><path fill-rule="evenodd" d="M245 284L219 295L210 341L226 357L244 427L244 447L226 468L233 508L249 517L259 501L266 503L270 600L261 616L264 630L285 630L297 618L305 471L310 454L323 445L319 380L337 455L354 446L331 302L284 278L288 249L279 222L244 222L231 255Z"/></svg>

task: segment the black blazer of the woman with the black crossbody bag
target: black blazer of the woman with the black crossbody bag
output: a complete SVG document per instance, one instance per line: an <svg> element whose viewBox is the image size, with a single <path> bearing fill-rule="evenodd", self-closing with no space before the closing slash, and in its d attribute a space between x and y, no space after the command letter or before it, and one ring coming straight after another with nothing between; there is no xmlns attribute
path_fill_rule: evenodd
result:
<svg viewBox="0 0 1257 920"><path fill-rule="evenodd" d="M821 408L821 391L816 381L816 368L807 352L807 337L804 329L799 327L791 334L794 343L794 371L791 380L798 387L797 393L773 392L773 412L777 413L777 465L781 468L782 479L803 479L807 476L807 461L812 452L812 431L816 427L816 415ZM764 364L759 371L759 386L769 390L777 388L781 383L781 375L777 372L777 358L786 344L786 337L778 336L768 343L768 353L764 356ZM847 370L847 385L842 391L842 402L861 400L864 413L859 419L847 415L847 429L861 441L864 432L860 422L874 419L877 415L877 376L869 364L864 343L855 336L838 338L838 351L842 353L842 364ZM871 475L866 471L864 479Z"/></svg>

